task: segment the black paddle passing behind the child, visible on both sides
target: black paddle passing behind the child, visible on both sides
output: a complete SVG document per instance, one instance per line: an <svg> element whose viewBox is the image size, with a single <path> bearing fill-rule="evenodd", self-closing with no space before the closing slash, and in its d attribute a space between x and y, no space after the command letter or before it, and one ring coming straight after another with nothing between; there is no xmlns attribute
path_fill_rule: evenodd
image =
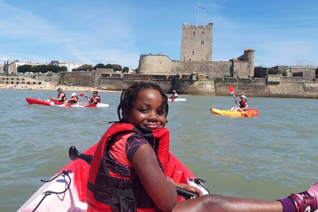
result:
<svg viewBox="0 0 318 212"><path fill-rule="evenodd" d="M77 150L77 148L75 146L71 146L69 149L69 157L71 160L82 159L88 165L90 165L91 159L93 158L93 155L82 154ZM197 194L190 192L188 190L182 189L182 188L177 187L177 186L175 188L177 190L178 195L184 197L185 199L190 199L191 197L198 197Z"/></svg>

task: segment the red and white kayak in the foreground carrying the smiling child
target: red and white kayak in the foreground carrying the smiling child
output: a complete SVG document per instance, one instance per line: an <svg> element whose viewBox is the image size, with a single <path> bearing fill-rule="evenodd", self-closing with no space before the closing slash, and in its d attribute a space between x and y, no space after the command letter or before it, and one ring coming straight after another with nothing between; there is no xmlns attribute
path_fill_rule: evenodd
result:
<svg viewBox="0 0 318 212"><path fill-rule="evenodd" d="M72 161L60 169L50 182L40 187L17 212L85 212L87 209L85 192L90 167L88 163L97 144L85 150L84 154L71 146L69 155ZM195 175L171 153L167 170L168 176L173 178L175 183L186 183L199 188L203 194L209 193L202 181L196 179ZM177 191L178 201L193 196L180 188L177 188Z"/></svg>

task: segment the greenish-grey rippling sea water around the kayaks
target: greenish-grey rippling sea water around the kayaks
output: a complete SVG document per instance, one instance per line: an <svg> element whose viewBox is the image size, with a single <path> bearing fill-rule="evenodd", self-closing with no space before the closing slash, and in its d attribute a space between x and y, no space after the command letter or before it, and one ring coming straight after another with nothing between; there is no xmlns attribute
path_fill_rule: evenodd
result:
<svg viewBox="0 0 318 212"><path fill-rule="evenodd" d="M108 122L118 120L120 93L99 93L108 108L49 107L25 101L56 94L0 89L1 212L16 211L43 184L41 179L49 179L69 162L71 145L85 150L99 141L111 125ZM170 150L206 180L211 193L275 200L318 181L317 99L247 96L259 116L233 118L210 114L212 107L234 105L230 93L179 97L187 101L169 102Z"/></svg>

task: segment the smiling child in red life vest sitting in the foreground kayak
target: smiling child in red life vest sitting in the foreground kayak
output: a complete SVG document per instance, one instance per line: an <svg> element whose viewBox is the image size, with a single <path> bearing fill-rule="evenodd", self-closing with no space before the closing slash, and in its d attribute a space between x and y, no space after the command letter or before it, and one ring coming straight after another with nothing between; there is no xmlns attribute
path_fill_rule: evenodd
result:
<svg viewBox="0 0 318 212"><path fill-rule="evenodd" d="M136 82L123 90L119 121L102 136L94 152L86 191L87 212L314 212L318 183L275 201L202 195L195 187L174 184L165 168L169 157L167 96L159 85ZM197 198L177 202L175 186Z"/></svg>

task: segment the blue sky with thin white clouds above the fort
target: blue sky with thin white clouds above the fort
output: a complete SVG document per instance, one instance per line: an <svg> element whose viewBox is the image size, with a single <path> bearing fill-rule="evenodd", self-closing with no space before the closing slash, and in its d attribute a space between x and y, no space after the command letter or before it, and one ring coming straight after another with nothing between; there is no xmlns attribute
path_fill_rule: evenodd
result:
<svg viewBox="0 0 318 212"><path fill-rule="evenodd" d="M255 66L318 66L317 0L0 0L0 66L180 60L182 24L210 22L212 61L252 48Z"/></svg>

